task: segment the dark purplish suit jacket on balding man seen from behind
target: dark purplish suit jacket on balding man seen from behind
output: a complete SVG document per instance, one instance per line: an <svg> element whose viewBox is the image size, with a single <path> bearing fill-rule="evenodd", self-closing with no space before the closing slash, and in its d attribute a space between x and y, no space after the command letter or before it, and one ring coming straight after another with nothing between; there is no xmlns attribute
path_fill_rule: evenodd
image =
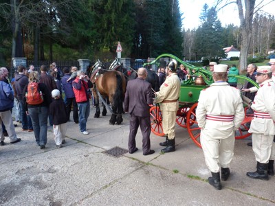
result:
<svg viewBox="0 0 275 206"><path fill-rule="evenodd" d="M148 117L149 104L153 104L151 84L142 78L130 80L125 93L124 111L137 117Z"/></svg>

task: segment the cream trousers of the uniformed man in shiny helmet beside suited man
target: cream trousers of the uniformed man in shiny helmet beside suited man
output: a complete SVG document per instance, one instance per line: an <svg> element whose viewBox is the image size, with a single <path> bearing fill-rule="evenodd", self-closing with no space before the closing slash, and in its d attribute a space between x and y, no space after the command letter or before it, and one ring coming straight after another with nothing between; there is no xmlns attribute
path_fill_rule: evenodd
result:
<svg viewBox="0 0 275 206"><path fill-rule="evenodd" d="M162 128L168 139L175 138L176 114L175 111L162 111Z"/></svg>

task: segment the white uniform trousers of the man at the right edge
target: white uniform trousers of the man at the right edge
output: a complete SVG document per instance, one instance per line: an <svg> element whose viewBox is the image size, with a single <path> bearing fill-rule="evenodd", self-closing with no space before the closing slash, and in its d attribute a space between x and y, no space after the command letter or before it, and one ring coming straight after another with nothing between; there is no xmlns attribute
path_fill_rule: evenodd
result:
<svg viewBox="0 0 275 206"><path fill-rule="evenodd" d="M252 146L256 161L268 163L275 159L274 135L252 134Z"/></svg>

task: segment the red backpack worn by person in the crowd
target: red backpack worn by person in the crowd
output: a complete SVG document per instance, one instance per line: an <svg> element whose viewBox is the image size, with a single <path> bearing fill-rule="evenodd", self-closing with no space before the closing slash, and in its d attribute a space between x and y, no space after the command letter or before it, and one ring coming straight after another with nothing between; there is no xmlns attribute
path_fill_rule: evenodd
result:
<svg viewBox="0 0 275 206"><path fill-rule="evenodd" d="M39 83L30 82L28 84L28 92L25 94L26 101L30 105L41 104L43 100L43 94L39 90Z"/></svg>

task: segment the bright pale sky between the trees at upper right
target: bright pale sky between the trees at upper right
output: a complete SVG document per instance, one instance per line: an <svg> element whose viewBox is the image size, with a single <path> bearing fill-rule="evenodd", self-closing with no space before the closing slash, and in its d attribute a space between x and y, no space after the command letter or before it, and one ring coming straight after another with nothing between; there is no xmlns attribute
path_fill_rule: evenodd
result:
<svg viewBox="0 0 275 206"><path fill-rule="evenodd" d="M256 5L260 0L256 0ZM179 8L183 12L184 20L182 21L185 30L192 30L195 27L199 26L199 15L203 8L204 3L208 4L208 7L211 8L216 0L179 0ZM264 3L270 2L270 0L265 0ZM273 8L273 11L272 11ZM265 5L263 10L270 14L275 15L275 1ZM223 8L218 12L218 18L221 21L223 26L233 23L234 25L240 25L238 8L236 3L228 5L226 8Z"/></svg>

